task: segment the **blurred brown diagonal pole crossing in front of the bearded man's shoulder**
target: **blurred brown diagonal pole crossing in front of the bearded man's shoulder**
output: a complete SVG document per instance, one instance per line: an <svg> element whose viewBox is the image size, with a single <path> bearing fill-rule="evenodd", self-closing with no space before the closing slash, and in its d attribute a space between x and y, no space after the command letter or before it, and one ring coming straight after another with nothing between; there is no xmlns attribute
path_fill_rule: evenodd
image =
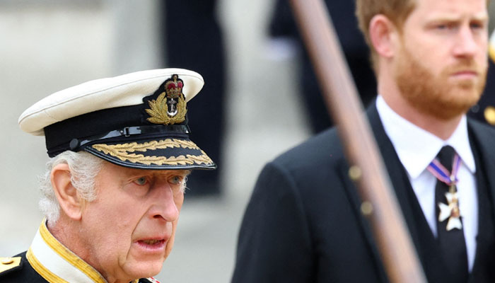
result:
<svg viewBox="0 0 495 283"><path fill-rule="evenodd" d="M391 282L426 282L327 8L321 0L291 0L291 5L388 277Z"/></svg>

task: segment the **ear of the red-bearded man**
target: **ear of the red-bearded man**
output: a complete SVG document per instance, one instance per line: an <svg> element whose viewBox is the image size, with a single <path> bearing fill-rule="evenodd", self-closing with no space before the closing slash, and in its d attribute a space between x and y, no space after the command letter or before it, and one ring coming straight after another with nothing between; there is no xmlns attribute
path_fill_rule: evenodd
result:
<svg viewBox="0 0 495 283"><path fill-rule="evenodd" d="M395 25L382 14L371 18L369 27L371 44L381 57L390 58L395 54Z"/></svg>

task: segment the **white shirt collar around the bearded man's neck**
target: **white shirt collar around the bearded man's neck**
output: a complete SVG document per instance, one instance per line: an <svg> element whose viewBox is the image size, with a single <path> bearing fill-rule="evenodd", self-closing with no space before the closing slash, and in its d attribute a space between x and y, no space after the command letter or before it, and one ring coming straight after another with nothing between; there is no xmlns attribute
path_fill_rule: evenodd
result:
<svg viewBox="0 0 495 283"><path fill-rule="evenodd" d="M397 156L411 178L417 178L445 145L450 145L455 149L462 163L471 173L476 171L465 115L462 116L452 136L443 140L405 120L392 110L380 95L376 99L376 108L385 133L392 141Z"/></svg>

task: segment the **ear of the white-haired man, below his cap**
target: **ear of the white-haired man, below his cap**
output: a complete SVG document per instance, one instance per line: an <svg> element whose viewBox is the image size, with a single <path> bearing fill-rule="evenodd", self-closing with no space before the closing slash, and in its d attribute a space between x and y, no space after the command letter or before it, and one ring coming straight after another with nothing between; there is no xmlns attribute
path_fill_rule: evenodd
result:
<svg viewBox="0 0 495 283"><path fill-rule="evenodd" d="M76 188L71 183L69 165L60 163L52 168L50 180L59 201L60 208L70 218L80 220L83 211L83 200L78 196Z"/></svg>

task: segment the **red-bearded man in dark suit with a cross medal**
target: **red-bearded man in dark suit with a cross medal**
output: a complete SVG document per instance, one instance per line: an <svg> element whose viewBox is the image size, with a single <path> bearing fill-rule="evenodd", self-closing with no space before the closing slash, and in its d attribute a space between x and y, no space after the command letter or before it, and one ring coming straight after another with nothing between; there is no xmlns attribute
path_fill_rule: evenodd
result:
<svg viewBox="0 0 495 283"><path fill-rule="evenodd" d="M368 119L429 282L495 281L495 131L465 113L487 74L487 0L357 0ZM349 117L352 119L352 117ZM388 282L336 129L270 162L232 282Z"/></svg>

